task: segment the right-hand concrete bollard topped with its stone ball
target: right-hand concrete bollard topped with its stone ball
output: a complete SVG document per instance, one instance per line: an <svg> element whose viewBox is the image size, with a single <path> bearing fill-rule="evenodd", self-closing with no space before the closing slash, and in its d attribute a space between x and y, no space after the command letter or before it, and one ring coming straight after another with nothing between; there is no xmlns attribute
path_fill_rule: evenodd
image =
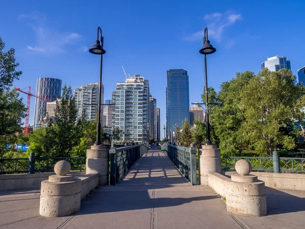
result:
<svg viewBox="0 0 305 229"><path fill-rule="evenodd" d="M267 214L265 183L249 175L251 164L239 160L235 164L238 174L226 181L227 211L240 216L260 217Z"/></svg>

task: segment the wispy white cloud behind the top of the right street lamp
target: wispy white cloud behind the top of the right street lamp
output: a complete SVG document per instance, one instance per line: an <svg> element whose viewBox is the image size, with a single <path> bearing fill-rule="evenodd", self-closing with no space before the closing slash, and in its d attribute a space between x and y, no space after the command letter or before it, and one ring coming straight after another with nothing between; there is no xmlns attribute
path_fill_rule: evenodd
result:
<svg viewBox="0 0 305 229"><path fill-rule="evenodd" d="M214 38L218 41L222 39L222 35L227 27L232 26L236 21L242 19L241 14L235 14L232 11L206 14L203 18L207 22L209 38ZM185 37L184 40L197 41L202 39L203 36L204 29Z"/></svg>

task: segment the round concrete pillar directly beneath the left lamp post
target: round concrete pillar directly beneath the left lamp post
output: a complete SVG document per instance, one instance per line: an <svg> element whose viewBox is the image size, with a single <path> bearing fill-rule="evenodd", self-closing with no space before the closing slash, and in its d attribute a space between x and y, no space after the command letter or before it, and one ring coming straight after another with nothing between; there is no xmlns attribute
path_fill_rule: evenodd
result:
<svg viewBox="0 0 305 229"><path fill-rule="evenodd" d="M99 185L108 184L109 149L91 146L86 155L86 174L99 174Z"/></svg>

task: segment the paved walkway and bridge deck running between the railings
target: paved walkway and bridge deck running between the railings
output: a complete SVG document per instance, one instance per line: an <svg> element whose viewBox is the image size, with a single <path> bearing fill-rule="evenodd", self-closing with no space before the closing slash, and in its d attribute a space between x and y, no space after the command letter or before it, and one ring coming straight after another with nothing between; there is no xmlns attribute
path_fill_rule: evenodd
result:
<svg viewBox="0 0 305 229"><path fill-rule="evenodd" d="M74 216L40 216L39 190L0 195L0 229L305 228L305 192L267 189L268 216L233 216L220 197L192 186L158 150L143 155L116 186L87 196Z"/></svg>

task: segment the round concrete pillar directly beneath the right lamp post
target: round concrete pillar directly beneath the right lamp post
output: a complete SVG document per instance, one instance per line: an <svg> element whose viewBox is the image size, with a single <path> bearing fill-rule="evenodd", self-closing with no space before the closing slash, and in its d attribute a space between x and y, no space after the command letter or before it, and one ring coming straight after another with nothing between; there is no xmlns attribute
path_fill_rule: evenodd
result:
<svg viewBox="0 0 305 229"><path fill-rule="evenodd" d="M200 185L208 185L209 173L221 173L220 149L215 145L202 145L198 166Z"/></svg>

